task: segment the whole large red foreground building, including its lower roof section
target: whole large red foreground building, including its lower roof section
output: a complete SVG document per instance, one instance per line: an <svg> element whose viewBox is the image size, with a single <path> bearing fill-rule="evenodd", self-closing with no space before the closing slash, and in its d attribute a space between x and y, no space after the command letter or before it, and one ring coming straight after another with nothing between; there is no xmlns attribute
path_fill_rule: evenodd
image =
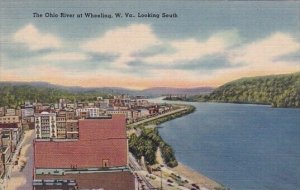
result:
<svg viewBox="0 0 300 190"><path fill-rule="evenodd" d="M134 190L124 115L79 120L79 139L34 141L33 188Z"/></svg>

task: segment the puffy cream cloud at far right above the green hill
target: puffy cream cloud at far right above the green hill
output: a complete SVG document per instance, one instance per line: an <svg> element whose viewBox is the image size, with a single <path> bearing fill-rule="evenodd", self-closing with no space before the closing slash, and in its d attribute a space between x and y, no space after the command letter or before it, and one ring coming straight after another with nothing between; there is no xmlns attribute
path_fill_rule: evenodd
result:
<svg viewBox="0 0 300 190"><path fill-rule="evenodd" d="M229 54L233 64L273 65L278 58L300 50L300 44L289 34L275 33L270 37L247 44Z"/></svg>

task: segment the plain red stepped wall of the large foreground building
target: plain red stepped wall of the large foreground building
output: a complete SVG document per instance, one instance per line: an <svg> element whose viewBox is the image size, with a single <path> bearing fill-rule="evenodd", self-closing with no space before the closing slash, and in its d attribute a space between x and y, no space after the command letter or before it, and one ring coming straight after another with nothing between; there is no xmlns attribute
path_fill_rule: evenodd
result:
<svg viewBox="0 0 300 190"><path fill-rule="evenodd" d="M51 154L49 154L51 153ZM79 120L79 139L76 141L34 142L35 168L89 168L127 165L127 136L125 116L111 119Z"/></svg>

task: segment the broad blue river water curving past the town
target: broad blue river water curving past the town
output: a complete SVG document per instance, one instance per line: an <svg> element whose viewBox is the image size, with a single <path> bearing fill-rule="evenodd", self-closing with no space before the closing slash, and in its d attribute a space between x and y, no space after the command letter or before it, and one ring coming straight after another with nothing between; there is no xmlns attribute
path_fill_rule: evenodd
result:
<svg viewBox="0 0 300 190"><path fill-rule="evenodd" d="M300 189L300 109L187 104L197 110L159 129L179 162L231 190Z"/></svg>

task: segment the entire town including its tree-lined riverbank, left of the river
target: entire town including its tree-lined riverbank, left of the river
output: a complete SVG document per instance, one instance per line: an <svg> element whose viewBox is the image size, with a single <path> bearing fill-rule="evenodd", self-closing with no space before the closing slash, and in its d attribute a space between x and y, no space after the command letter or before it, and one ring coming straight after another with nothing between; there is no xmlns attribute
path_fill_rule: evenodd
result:
<svg viewBox="0 0 300 190"><path fill-rule="evenodd" d="M158 134L195 107L125 94L79 99L0 108L1 190L219 187L179 164Z"/></svg>

